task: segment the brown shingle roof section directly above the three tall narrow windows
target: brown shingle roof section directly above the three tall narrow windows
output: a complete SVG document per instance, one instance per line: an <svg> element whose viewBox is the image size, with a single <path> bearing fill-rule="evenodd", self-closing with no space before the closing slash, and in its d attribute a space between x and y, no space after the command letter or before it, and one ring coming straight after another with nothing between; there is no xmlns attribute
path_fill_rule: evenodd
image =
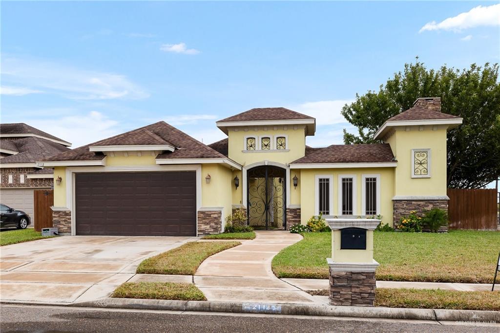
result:
<svg viewBox="0 0 500 333"><path fill-rule="evenodd" d="M382 163L394 162L389 144L331 145L310 148L305 156L291 162L297 163Z"/></svg>

